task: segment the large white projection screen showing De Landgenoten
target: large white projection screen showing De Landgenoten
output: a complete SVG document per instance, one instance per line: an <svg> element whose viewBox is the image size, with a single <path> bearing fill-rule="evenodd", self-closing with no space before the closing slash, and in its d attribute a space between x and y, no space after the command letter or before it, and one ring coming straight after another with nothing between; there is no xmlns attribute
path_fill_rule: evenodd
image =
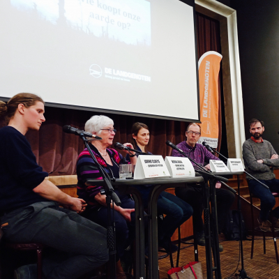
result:
<svg viewBox="0 0 279 279"><path fill-rule="evenodd" d="M0 1L0 96L199 121L191 0Z"/></svg>

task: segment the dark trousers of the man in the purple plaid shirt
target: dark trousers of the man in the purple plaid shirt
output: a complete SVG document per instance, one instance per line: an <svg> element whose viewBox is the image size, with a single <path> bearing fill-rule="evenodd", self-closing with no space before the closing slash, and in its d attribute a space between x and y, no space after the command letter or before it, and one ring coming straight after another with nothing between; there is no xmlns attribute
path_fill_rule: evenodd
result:
<svg viewBox="0 0 279 279"><path fill-rule="evenodd" d="M193 207L193 229L196 232L204 231L202 211L204 211L202 187L199 185L176 188L175 195ZM218 218L218 231L222 232L225 217L234 202L234 194L229 190L216 188L216 205Z"/></svg>

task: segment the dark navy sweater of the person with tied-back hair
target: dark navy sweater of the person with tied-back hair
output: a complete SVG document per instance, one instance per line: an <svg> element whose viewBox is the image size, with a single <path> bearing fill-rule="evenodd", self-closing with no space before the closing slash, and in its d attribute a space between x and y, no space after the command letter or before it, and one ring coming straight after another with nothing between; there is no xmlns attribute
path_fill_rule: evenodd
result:
<svg viewBox="0 0 279 279"><path fill-rule="evenodd" d="M47 199L33 192L47 172L36 163L26 137L13 127L0 129L0 214Z"/></svg>

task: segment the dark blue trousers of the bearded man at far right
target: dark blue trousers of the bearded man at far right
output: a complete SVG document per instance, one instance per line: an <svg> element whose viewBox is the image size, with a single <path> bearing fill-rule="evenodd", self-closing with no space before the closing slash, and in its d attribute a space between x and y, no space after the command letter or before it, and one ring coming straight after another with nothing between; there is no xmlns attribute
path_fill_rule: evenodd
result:
<svg viewBox="0 0 279 279"><path fill-rule="evenodd" d="M255 181L254 179L248 179L248 186L250 192L261 200L261 211L259 213L259 218L262 220L267 220L269 218L269 212L273 209L273 206L276 204L275 197L273 197L271 192L279 193L279 180L261 180L262 183L266 184L269 189L264 188L262 184ZM279 206L272 211L273 216L279 218Z"/></svg>

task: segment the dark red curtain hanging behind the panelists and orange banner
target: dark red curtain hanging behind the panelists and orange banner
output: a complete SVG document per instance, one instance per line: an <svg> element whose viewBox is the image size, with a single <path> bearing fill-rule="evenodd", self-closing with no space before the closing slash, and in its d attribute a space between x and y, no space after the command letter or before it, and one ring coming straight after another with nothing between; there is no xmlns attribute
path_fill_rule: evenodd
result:
<svg viewBox="0 0 279 279"><path fill-rule="evenodd" d="M198 58L209 50L220 52L219 29L218 21L197 13ZM174 101L169 103L174 105ZM84 123L94 114L96 113L84 110L45 107L46 121L40 131L29 131L26 135L38 164L43 167L45 172L51 175L75 174L77 156L84 149L83 142L75 135L63 133L62 128L64 125L70 125L84 130ZM163 157L170 156L172 150L166 146L165 142L169 140L178 144L185 140L185 131L188 126L186 122L121 114L104 115L114 121L114 128L117 130L114 142L130 142L130 130L133 123L137 121L149 126L151 132L149 151L153 154L160 154ZM4 125L2 119L0 126Z"/></svg>

